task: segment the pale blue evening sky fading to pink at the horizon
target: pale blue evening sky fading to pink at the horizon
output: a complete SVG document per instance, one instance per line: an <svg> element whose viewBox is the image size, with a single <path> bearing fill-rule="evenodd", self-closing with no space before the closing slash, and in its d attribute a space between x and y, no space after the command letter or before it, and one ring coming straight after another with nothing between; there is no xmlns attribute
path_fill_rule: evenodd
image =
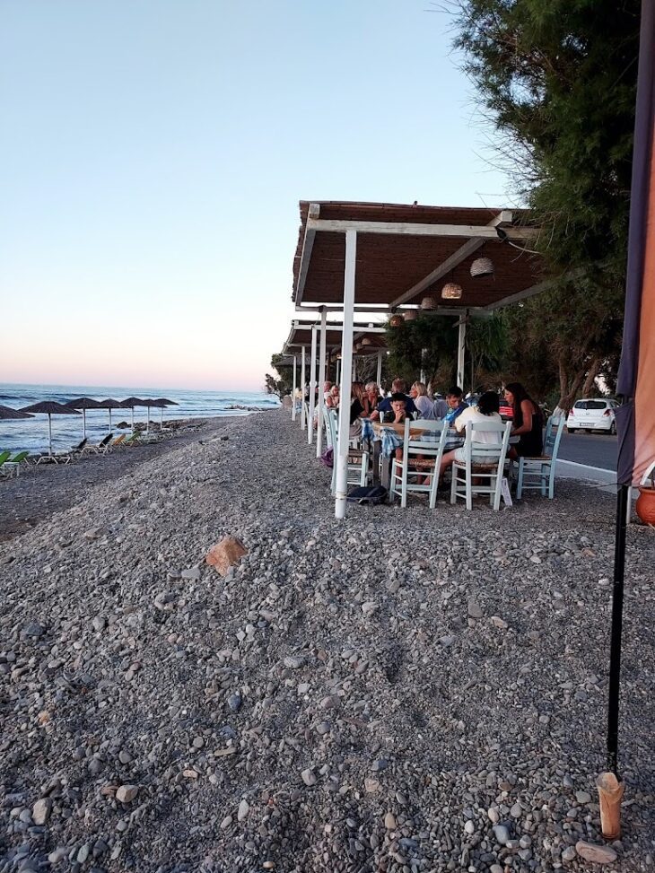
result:
<svg viewBox="0 0 655 873"><path fill-rule="evenodd" d="M257 390L299 200L511 203L431 0L0 0L0 381Z"/></svg>

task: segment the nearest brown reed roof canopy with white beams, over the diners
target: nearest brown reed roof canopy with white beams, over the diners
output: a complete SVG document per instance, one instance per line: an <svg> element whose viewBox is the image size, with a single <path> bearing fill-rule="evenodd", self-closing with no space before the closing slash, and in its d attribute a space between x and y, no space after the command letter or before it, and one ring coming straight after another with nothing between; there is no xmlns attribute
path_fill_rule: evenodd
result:
<svg viewBox="0 0 655 873"><path fill-rule="evenodd" d="M426 296L440 310L496 309L545 287L537 228L527 211L456 206L301 201L293 259L293 301L340 304L344 299L345 231L357 231L355 305L395 309ZM491 258L493 275L472 278L476 258ZM442 301L446 282L461 285Z"/></svg>

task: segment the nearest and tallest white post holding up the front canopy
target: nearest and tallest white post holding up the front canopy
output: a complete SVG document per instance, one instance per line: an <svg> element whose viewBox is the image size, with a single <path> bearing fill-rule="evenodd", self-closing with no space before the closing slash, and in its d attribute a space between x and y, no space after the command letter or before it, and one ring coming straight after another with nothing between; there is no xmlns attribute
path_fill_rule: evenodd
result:
<svg viewBox="0 0 655 873"><path fill-rule="evenodd" d="M348 449L350 448L350 383L353 375L354 274L357 231L345 231L344 335L341 344L341 401L337 437L335 516L345 517L348 493Z"/></svg>

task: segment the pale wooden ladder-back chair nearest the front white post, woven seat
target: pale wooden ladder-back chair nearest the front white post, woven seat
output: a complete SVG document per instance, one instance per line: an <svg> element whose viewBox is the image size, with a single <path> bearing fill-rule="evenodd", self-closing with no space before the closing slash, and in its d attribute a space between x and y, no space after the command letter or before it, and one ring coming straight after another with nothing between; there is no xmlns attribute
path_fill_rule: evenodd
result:
<svg viewBox="0 0 655 873"><path fill-rule="evenodd" d="M415 426L415 423L407 419L403 440L403 458L402 460L394 458L391 465L389 502L393 502L399 494L400 505L405 509L408 493L429 494L429 505L430 509L433 510L437 502L439 468L449 428L443 422L422 421L423 433L413 438L410 434L411 426ZM419 484L419 480L427 476L429 476L430 481L425 485Z"/></svg>

